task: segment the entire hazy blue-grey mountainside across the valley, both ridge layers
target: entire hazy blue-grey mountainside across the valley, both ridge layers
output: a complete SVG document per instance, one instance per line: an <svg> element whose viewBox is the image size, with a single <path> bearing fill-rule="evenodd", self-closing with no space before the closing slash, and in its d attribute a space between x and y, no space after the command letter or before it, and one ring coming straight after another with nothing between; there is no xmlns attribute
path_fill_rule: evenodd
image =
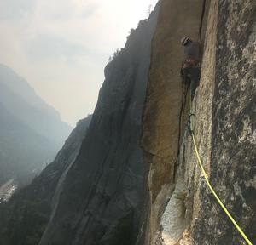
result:
<svg viewBox="0 0 256 245"><path fill-rule="evenodd" d="M0 185L43 168L70 131L24 78L0 65Z"/></svg>

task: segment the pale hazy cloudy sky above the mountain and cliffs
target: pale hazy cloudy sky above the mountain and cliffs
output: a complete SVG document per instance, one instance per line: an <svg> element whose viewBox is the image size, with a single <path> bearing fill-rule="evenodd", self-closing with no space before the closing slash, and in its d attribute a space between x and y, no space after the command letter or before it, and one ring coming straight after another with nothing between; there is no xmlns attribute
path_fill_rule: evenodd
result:
<svg viewBox="0 0 256 245"><path fill-rule="evenodd" d="M0 0L0 63L71 126L94 111L104 67L157 0Z"/></svg>

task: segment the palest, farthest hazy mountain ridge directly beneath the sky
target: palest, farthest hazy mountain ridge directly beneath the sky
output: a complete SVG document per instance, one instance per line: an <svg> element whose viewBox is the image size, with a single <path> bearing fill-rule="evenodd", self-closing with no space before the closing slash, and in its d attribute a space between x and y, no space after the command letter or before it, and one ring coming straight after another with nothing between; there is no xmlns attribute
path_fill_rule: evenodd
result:
<svg viewBox="0 0 256 245"><path fill-rule="evenodd" d="M24 78L1 64L0 88L0 102L13 111L15 117L61 147L71 127L61 122L59 113L42 100Z"/></svg>

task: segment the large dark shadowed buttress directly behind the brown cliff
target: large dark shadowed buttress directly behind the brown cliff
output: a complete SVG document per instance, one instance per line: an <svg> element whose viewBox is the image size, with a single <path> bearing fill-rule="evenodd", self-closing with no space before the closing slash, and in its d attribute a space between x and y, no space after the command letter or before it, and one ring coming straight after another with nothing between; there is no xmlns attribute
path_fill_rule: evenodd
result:
<svg viewBox="0 0 256 245"><path fill-rule="evenodd" d="M147 178L140 135L157 12L139 23L105 69L88 134L41 245L137 241Z"/></svg>

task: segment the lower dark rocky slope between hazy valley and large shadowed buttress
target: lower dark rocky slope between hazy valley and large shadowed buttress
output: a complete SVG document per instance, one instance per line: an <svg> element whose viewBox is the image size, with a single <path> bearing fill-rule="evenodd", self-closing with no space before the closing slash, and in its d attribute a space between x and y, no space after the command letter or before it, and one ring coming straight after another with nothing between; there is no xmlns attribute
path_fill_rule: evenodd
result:
<svg viewBox="0 0 256 245"><path fill-rule="evenodd" d="M91 116L79 121L55 161L0 206L0 244L38 244L61 192L61 179L79 153L90 120Z"/></svg>

